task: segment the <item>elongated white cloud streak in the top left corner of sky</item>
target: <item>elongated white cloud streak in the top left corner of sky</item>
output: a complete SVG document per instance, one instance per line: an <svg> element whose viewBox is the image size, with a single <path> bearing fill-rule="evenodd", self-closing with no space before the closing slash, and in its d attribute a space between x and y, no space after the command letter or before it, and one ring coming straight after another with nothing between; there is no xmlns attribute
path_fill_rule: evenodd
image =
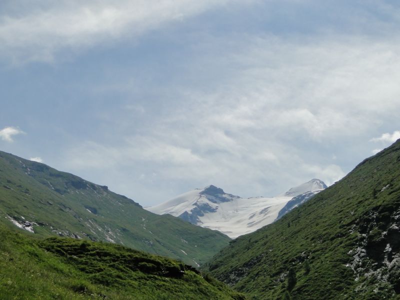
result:
<svg viewBox="0 0 400 300"><path fill-rule="evenodd" d="M121 36L135 37L201 13L227 0L61 0L16 1L18 14L0 15L0 55L16 60L52 61L73 51Z"/></svg>

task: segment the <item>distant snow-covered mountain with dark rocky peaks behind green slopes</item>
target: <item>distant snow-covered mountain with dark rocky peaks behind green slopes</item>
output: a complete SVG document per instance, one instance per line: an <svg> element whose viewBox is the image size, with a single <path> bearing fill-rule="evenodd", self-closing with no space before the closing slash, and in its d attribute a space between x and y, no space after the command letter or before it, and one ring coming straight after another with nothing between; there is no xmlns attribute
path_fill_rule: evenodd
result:
<svg viewBox="0 0 400 300"><path fill-rule="evenodd" d="M326 188L325 183L312 179L276 197L241 198L209 185L145 209L161 215L178 216L192 224L215 229L235 238L270 224L323 188ZM293 197L301 195L302 201L289 204ZM289 206L286 207L287 204Z"/></svg>

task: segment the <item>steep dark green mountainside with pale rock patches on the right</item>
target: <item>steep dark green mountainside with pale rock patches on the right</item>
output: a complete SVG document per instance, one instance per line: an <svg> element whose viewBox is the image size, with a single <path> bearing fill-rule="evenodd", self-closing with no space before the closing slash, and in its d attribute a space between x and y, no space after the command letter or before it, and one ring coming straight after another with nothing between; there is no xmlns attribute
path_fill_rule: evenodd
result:
<svg viewBox="0 0 400 300"><path fill-rule="evenodd" d="M251 299L399 299L400 140L203 269Z"/></svg>

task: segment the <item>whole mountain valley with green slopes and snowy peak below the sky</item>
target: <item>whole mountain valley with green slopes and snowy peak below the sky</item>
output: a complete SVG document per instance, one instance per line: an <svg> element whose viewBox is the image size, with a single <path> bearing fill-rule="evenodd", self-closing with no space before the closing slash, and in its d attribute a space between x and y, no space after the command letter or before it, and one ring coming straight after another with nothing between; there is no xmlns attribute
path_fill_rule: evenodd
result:
<svg viewBox="0 0 400 300"><path fill-rule="evenodd" d="M395 299L399 163L400 140L329 187L312 179L244 199L210 185L147 208L158 215L0 152L0 289L47 298ZM45 281L21 288L33 273L20 263Z"/></svg>

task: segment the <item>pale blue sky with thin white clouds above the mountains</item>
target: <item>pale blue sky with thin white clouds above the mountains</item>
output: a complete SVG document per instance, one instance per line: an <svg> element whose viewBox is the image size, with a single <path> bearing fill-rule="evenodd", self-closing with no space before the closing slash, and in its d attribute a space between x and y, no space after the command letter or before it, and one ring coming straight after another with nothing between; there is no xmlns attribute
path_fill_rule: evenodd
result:
<svg viewBox="0 0 400 300"><path fill-rule="evenodd" d="M0 150L143 206L332 184L400 138L394 0L2 0Z"/></svg>

